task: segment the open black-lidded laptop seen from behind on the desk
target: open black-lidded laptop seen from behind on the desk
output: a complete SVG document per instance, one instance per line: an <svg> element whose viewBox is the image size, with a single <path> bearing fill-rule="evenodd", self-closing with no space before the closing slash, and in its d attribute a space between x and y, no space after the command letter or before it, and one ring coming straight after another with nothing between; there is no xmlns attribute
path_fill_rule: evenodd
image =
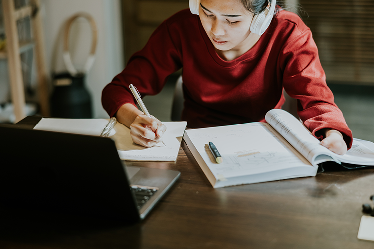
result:
<svg viewBox="0 0 374 249"><path fill-rule="evenodd" d="M144 219L180 176L126 166L110 138L0 125L0 205Z"/></svg>

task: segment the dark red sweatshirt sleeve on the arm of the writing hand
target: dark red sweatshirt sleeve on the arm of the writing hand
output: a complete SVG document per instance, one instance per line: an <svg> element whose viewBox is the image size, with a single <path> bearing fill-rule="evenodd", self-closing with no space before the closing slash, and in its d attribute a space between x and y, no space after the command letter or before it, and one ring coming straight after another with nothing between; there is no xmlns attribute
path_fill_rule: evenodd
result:
<svg viewBox="0 0 374 249"><path fill-rule="evenodd" d="M142 97L159 93L168 76L182 67L180 56L164 21L145 47L132 55L126 68L103 89L101 102L109 116L114 116L125 103L135 105L130 84L136 86Z"/></svg>

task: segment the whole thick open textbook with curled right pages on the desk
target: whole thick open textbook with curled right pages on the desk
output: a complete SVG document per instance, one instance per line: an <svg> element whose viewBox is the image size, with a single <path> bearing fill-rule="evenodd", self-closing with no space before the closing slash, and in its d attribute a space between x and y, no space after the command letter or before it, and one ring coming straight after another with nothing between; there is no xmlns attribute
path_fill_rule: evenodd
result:
<svg viewBox="0 0 374 249"><path fill-rule="evenodd" d="M374 165L374 143L354 139L343 156L323 147L293 115L270 110L267 123L253 122L186 130L184 140L214 188L315 176L318 164L335 161ZM209 150L213 142L223 158L216 163Z"/></svg>

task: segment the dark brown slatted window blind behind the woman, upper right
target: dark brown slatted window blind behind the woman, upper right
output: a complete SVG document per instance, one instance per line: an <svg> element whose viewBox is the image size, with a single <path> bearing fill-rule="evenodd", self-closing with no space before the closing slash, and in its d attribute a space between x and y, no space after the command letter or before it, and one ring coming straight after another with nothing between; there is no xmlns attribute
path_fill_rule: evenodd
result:
<svg viewBox="0 0 374 249"><path fill-rule="evenodd" d="M299 0L328 83L374 85L374 0Z"/></svg>

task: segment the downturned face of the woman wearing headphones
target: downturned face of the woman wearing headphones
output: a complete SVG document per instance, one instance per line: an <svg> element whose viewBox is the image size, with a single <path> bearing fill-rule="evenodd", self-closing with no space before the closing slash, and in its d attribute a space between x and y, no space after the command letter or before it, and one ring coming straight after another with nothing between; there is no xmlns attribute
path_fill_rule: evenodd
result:
<svg viewBox="0 0 374 249"><path fill-rule="evenodd" d="M250 43L253 13L238 0L201 0L199 16L216 49L241 50Z"/></svg>

